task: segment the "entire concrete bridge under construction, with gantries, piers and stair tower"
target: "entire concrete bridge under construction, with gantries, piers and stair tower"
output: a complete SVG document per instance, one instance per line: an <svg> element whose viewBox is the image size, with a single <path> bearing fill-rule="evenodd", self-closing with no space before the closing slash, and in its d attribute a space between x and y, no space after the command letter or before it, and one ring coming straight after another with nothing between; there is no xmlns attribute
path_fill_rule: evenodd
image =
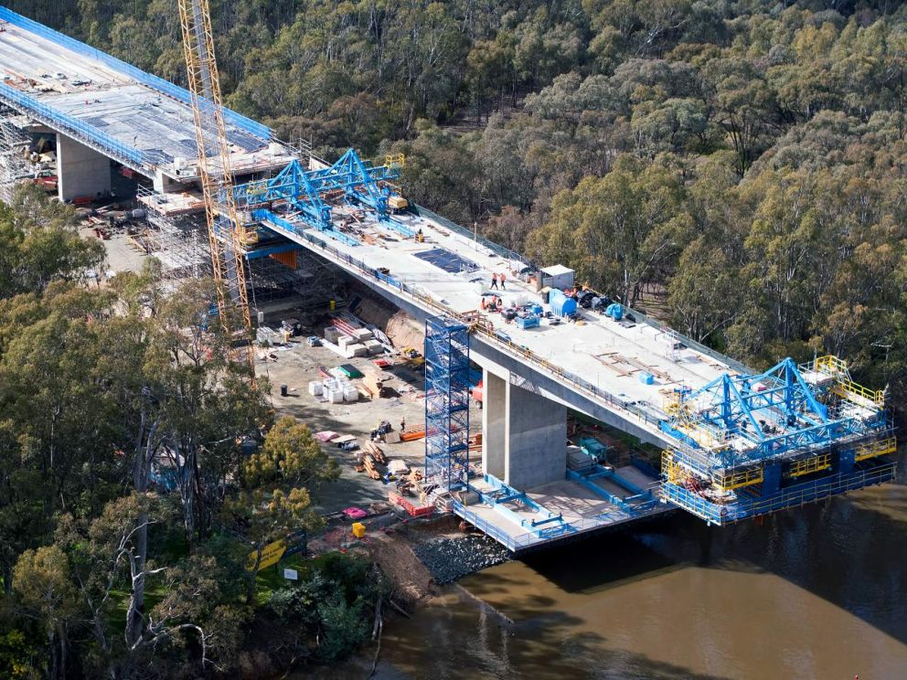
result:
<svg viewBox="0 0 907 680"><path fill-rule="evenodd" d="M187 90L3 7L0 63L0 197L51 162L23 152L52 135L61 200L104 196L112 177L131 177L149 221L171 235L155 254L171 270L203 271L203 249L187 245L205 210ZM411 205L400 155L369 162L350 149L328 162L238 113L225 118L240 218L229 228L247 280L256 285L256 261L294 276L308 259L425 323L426 487L511 550L676 508L720 526L893 478L886 394L855 383L844 360L746 367L582 290L559 263ZM481 461L469 456L474 365ZM569 410L655 445L660 467L569 444Z"/></svg>

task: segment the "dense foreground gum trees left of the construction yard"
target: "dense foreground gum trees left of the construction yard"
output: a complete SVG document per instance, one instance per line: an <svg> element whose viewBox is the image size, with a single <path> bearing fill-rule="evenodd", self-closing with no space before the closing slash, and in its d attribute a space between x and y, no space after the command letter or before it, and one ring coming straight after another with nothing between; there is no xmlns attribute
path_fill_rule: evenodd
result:
<svg viewBox="0 0 907 680"><path fill-rule="evenodd" d="M229 359L207 318L212 282L162 294L151 261L86 285L103 254L71 208L28 185L12 204L0 206L0 675L225 673L266 604L247 556L319 526L312 497L336 462L305 425L275 423L266 382ZM322 570L310 579L321 588ZM334 617L358 630L375 593L344 585L334 609L287 622L278 656L335 658L359 641Z"/></svg>

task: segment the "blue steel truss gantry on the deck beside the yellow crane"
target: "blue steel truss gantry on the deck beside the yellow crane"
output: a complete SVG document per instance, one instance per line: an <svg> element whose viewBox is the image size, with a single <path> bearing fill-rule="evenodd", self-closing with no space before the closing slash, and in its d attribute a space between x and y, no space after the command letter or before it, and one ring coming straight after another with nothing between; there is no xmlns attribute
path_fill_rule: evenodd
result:
<svg viewBox="0 0 907 680"><path fill-rule="evenodd" d="M336 230L328 200L343 197L347 203L368 207L381 226L411 238L414 233L389 216L389 205L405 201L391 188L400 177L401 156L389 156L385 165L362 161L353 149L340 156L334 165L306 170L293 160L271 179L261 179L234 187L237 206L251 211L251 218L279 230L299 231L317 228L326 236L358 245Z"/></svg>

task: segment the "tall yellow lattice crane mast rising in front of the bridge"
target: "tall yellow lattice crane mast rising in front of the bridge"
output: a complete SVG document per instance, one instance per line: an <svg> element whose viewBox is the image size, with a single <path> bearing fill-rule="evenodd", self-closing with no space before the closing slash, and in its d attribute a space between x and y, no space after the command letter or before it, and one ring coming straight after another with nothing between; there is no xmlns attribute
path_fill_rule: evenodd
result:
<svg viewBox="0 0 907 680"><path fill-rule="evenodd" d="M233 170L214 54L211 10L208 0L178 0L178 4L220 323L230 341L236 339L238 332L245 336L246 359L254 376L249 292L243 261L243 250L254 240L254 232L240 221L233 195ZM239 324L234 321L237 314Z"/></svg>

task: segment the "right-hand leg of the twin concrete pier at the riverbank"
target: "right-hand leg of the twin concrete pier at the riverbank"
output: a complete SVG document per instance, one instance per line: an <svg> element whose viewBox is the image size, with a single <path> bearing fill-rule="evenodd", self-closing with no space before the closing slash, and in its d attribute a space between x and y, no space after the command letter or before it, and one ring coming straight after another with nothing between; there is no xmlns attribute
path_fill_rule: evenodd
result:
<svg viewBox="0 0 907 680"><path fill-rule="evenodd" d="M567 407L507 381L504 481L525 490L567 473Z"/></svg>

